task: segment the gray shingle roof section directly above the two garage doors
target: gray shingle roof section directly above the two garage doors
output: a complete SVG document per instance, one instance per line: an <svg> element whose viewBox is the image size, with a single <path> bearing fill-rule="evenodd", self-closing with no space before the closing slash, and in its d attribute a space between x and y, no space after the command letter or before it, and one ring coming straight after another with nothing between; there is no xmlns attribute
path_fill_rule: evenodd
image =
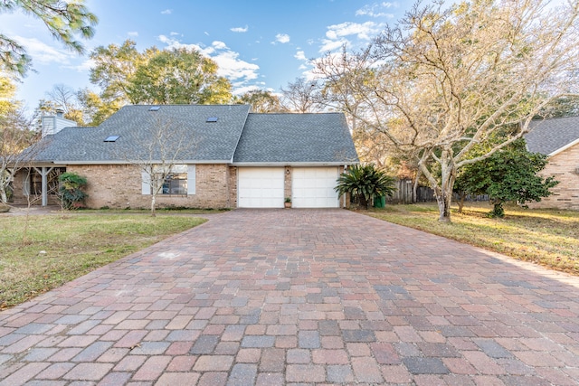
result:
<svg viewBox="0 0 579 386"><path fill-rule="evenodd" d="M233 162L237 164L352 164L358 157L341 113L250 114Z"/></svg>

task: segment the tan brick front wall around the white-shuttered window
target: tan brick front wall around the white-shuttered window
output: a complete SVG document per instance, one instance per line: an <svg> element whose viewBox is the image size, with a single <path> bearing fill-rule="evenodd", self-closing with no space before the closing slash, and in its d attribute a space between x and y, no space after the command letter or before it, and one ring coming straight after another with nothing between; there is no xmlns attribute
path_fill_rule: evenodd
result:
<svg viewBox="0 0 579 386"><path fill-rule="evenodd" d="M67 172L88 180L87 205L90 208L149 208L150 195L141 193L142 177L137 165L69 165ZM196 165L195 194L168 196L157 194L157 208L230 207L227 165Z"/></svg>

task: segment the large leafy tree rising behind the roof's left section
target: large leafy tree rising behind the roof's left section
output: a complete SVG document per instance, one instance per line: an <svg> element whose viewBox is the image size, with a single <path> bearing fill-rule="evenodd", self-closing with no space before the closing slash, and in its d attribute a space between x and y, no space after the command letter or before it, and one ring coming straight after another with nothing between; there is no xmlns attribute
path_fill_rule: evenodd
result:
<svg viewBox="0 0 579 386"><path fill-rule="evenodd" d="M185 48L157 52L130 78L128 99L147 104L223 104L231 101L229 80L217 64Z"/></svg>

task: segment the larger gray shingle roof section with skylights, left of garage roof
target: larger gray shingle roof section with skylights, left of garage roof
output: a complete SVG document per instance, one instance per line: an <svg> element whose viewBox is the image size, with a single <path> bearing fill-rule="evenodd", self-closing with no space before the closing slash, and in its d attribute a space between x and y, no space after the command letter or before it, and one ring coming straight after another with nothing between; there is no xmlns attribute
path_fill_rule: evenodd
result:
<svg viewBox="0 0 579 386"><path fill-rule="evenodd" d="M147 145L158 129L170 130L166 145L179 147L178 160L231 162L235 146L249 113L246 105L166 105L157 111L150 106L125 106L99 127L67 127L44 139L36 161L54 163L109 163L148 159ZM216 122L207 118L217 117ZM165 130L162 128L161 130ZM115 142L104 142L119 136ZM175 152L168 152L169 156ZM163 155L157 152L153 159Z"/></svg>

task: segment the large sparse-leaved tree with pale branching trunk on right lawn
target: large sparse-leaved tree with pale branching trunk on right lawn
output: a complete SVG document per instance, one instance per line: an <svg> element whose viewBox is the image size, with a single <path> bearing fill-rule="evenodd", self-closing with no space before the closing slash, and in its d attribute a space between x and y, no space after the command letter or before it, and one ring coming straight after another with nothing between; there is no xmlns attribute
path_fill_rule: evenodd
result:
<svg viewBox="0 0 579 386"><path fill-rule="evenodd" d="M457 171L522 137L537 112L577 92L578 14L577 0L418 3L363 52L327 54L317 69L330 102L414 155L439 220L450 221ZM485 154L470 156L491 137Z"/></svg>

